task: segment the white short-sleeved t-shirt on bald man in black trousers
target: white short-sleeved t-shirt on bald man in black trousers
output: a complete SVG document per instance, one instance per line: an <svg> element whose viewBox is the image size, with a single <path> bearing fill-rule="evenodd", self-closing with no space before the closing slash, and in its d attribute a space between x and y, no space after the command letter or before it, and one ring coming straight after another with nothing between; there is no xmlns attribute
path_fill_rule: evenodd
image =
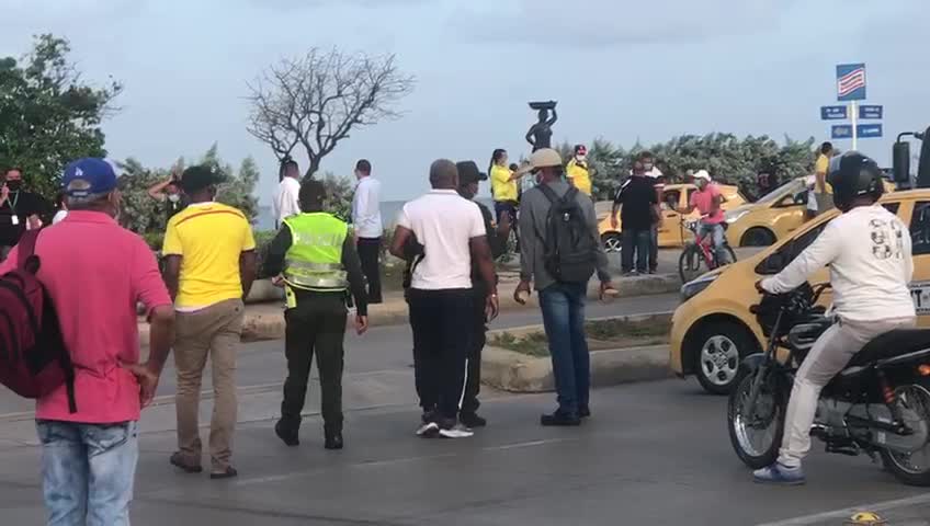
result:
<svg viewBox="0 0 930 526"><path fill-rule="evenodd" d="M417 236L426 256L413 270L411 288L472 288L472 238L486 236L478 205L454 190L433 190L400 210L397 226Z"/></svg>

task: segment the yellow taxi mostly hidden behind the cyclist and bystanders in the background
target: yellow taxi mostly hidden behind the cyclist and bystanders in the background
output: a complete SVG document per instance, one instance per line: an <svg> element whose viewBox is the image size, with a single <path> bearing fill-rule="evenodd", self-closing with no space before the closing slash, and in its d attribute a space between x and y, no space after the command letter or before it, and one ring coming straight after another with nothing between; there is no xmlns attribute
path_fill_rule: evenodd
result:
<svg viewBox="0 0 930 526"><path fill-rule="evenodd" d="M726 199L722 206L724 210L731 210L746 204L746 197L739 193L736 186L717 184L717 187ZM685 241L691 240L691 232L684 228L684 222L697 220L701 214L694 210L690 215L682 217L678 210L680 208L688 208L691 194L696 191L697 187L693 184L666 185L661 204L662 226L659 228L659 247L683 247ZM620 213L617 213L616 228L611 226L610 209L606 210L605 215L599 215L598 217L601 218L598 229L601 232L601 241L604 243L604 250L619 253L622 247Z"/></svg>

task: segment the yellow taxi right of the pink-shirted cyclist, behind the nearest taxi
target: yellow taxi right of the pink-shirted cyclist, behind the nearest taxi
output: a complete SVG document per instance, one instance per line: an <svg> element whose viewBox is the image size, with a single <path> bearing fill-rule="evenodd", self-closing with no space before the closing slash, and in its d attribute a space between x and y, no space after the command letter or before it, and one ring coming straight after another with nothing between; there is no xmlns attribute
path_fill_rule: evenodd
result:
<svg viewBox="0 0 930 526"><path fill-rule="evenodd" d="M801 228L807 214L807 187L814 176L797 178L779 186L756 203L727 210L727 243L730 247L768 247ZM895 186L885 181L885 192Z"/></svg>

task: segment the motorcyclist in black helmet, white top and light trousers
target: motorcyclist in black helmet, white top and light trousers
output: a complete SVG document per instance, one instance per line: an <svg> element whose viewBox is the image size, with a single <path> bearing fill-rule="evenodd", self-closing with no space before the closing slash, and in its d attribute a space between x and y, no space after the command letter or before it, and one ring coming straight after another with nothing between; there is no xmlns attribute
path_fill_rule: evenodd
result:
<svg viewBox="0 0 930 526"><path fill-rule="evenodd" d="M828 182L842 215L775 276L757 283L760 291L782 294L829 265L836 323L804 359L785 414L778 461L757 470L762 483L803 484L801 461L810 449L810 425L820 390L875 336L914 327L916 313L908 284L914 274L907 227L876 202L884 184L872 159L850 151L830 163Z"/></svg>

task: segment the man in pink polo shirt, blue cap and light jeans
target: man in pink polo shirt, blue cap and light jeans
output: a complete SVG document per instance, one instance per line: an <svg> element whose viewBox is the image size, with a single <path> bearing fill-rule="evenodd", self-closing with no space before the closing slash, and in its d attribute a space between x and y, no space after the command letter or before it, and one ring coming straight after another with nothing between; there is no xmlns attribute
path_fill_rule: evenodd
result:
<svg viewBox="0 0 930 526"><path fill-rule="evenodd" d="M38 281L58 313L76 369L77 412L63 386L38 400L36 427L48 523L129 524L138 460L138 420L151 402L170 351L174 310L145 241L121 228L113 167L82 159L65 169L68 216L38 235ZM18 249L0 265L11 271ZM139 363L136 304L151 323Z"/></svg>

